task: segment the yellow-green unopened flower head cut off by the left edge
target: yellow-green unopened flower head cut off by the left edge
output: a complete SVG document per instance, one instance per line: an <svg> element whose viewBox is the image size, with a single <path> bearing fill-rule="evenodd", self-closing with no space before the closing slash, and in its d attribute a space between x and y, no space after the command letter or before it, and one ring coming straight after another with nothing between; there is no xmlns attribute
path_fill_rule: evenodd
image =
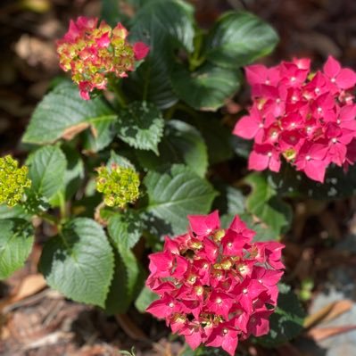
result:
<svg viewBox="0 0 356 356"><path fill-rule="evenodd" d="M0 158L0 204L14 206L21 201L25 189L31 186L28 173L28 167L19 168L12 156Z"/></svg>

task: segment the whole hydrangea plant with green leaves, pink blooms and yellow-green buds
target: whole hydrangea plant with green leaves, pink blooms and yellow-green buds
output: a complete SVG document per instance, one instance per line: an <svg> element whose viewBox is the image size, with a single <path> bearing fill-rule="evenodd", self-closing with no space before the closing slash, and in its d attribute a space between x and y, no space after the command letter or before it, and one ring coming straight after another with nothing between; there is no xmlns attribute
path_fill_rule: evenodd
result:
<svg viewBox="0 0 356 356"><path fill-rule="evenodd" d="M70 21L57 42L70 78L37 104L24 166L0 161L0 277L28 258L37 217L55 232L38 269L66 297L109 314L148 311L186 352L201 345L196 355L234 355L247 338L286 343L303 310L278 283L292 220L284 184L298 198L314 180L322 191L336 165L333 197L355 192L355 74L332 57L316 72L307 59L253 64L278 37L249 12L206 30L185 1L136 4L128 18L104 1L102 21ZM226 120L244 74L253 105ZM254 139L248 168L275 176L220 172L246 156L236 136Z"/></svg>

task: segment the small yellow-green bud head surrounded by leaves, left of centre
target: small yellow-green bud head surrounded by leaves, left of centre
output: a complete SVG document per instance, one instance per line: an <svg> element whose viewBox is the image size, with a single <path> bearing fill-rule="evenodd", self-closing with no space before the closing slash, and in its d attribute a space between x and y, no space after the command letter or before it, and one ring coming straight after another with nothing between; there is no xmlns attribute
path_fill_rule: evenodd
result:
<svg viewBox="0 0 356 356"><path fill-rule="evenodd" d="M103 193L103 203L107 206L124 208L128 203L135 203L139 197L140 179L136 170L112 164L96 169L96 190Z"/></svg>

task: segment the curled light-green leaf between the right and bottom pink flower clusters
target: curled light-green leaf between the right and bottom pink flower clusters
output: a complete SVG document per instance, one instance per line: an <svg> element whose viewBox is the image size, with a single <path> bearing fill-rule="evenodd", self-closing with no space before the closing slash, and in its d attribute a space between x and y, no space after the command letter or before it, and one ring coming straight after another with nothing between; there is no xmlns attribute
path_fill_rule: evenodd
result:
<svg viewBox="0 0 356 356"><path fill-rule="evenodd" d="M281 201L267 179L257 173L250 174L244 181L252 186L247 197L247 210L268 225L275 235L286 231L292 220L292 209Z"/></svg>

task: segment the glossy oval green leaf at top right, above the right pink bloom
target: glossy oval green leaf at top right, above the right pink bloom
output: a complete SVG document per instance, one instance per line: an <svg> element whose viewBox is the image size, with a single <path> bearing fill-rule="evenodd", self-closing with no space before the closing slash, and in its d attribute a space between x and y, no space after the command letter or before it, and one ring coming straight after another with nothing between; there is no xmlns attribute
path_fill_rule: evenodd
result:
<svg viewBox="0 0 356 356"><path fill-rule="evenodd" d="M269 54L277 41L276 31L253 13L228 12L211 30L204 54L220 66L242 67Z"/></svg>

